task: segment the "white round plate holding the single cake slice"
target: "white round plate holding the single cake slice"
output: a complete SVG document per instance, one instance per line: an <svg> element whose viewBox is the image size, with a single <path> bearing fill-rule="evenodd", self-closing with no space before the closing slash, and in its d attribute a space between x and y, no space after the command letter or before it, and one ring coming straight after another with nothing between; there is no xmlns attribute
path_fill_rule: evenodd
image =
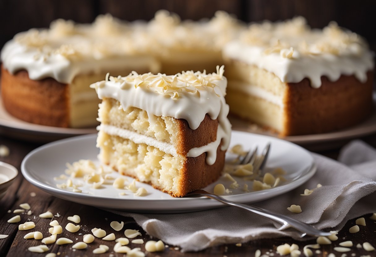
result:
<svg viewBox="0 0 376 257"><path fill-rule="evenodd" d="M285 175L288 182L271 189L245 193L241 190L244 182L241 182L239 178L238 181L239 183L241 182L241 188L237 190L232 189L232 193L225 196L226 199L238 203L252 203L265 200L300 186L315 173L316 168L311 154L295 144L268 136L238 131L232 132L231 145L243 144L245 149L253 148L256 145L263 148L267 142L271 142L271 151L266 169L276 167L284 168L288 172L288 174ZM99 150L96 148L96 135L63 139L39 147L27 154L21 164L21 171L30 183L45 192L59 198L91 206L127 210L131 212L153 213L192 212L223 206L221 203L205 197L170 197L170 195L156 190L148 184L139 182L136 183L136 186L140 187L142 185L142 187L147 189L149 195L136 197L129 190L115 189L112 186L113 180L105 184L102 189L92 189L88 185L80 187L82 193L75 193L69 191L69 189L59 189L56 187L56 183L65 182L59 182L53 179L64 173L65 163L73 163L79 159L91 159L98 162L98 153ZM229 158L229 154L226 159L227 158ZM117 172L113 172L112 176L118 177L119 175ZM133 178L128 178L128 180L131 182ZM229 186L230 181L221 178L205 189L209 192L213 192L213 188L217 183L223 183L225 186ZM251 184L252 182L248 181L247 183ZM250 186L250 188L252 187ZM120 195L120 192L125 192L126 195Z"/></svg>

